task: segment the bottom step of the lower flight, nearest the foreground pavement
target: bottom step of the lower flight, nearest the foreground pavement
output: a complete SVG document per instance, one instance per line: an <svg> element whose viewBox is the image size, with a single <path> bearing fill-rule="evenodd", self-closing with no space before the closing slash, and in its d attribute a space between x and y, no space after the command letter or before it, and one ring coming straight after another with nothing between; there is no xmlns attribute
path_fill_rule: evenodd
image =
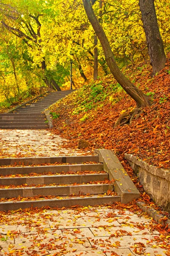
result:
<svg viewBox="0 0 170 256"><path fill-rule="evenodd" d="M61 198L45 199L42 198L39 200L29 200L28 201L5 201L0 202L1 211L17 210L17 209L26 209L34 207L70 207L75 205L96 205L96 204L114 204L115 202L120 202L120 196L105 196L105 195L83 195L83 196L62 196Z"/></svg>

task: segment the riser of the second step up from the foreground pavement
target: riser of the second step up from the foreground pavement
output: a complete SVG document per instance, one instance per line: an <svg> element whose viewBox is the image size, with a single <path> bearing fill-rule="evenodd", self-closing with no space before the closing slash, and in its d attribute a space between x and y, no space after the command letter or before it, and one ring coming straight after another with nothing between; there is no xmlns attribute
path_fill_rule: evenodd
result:
<svg viewBox="0 0 170 256"><path fill-rule="evenodd" d="M86 195L86 194L104 194L107 190L113 190L112 184L92 184L81 186L46 186L39 188L20 188L20 189L0 189L0 198L15 198L15 197L34 197L37 195Z"/></svg>

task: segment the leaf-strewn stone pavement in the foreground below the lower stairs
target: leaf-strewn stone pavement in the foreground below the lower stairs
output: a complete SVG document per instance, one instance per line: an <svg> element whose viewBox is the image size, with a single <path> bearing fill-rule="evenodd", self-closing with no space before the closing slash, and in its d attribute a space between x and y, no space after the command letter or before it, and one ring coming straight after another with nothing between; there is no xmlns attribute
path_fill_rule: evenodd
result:
<svg viewBox="0 0 170 256"><path fill-rule="evenodd" d="M115 206L1 213L0 241L0 256L170 255L151 218Z"/></svg>

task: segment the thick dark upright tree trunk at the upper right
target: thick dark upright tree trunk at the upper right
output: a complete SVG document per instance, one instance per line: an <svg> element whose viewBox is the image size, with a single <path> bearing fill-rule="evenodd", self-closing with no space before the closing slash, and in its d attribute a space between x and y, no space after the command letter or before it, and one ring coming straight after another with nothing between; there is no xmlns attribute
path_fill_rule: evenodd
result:
<svg viewBox="0 0 170 256"><path fill-rule="evenodd" d="M139 0L153 75L165 67L166 55L159 32L154 0Z"/></svg>

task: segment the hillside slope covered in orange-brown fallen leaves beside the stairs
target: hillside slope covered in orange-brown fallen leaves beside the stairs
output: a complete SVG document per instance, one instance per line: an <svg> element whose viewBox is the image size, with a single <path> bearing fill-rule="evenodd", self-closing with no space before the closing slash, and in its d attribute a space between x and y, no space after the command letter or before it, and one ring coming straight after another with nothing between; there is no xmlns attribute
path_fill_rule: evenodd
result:
<svg viewBox="0 0 170 256"><path fill-rule="evenodd" d="M77 147L80 138L89 140L94 148L108 148L124 157L138 156L147 163L170 168L170 55L167 65L152 78L148 64L130 67L124 73L150 96L150 108L131 125L114 124L123 111L130 111L135 102L121 90L111 75L81 87L51 107L56 112L54 131L71 139L69 146Z"/></svg>

